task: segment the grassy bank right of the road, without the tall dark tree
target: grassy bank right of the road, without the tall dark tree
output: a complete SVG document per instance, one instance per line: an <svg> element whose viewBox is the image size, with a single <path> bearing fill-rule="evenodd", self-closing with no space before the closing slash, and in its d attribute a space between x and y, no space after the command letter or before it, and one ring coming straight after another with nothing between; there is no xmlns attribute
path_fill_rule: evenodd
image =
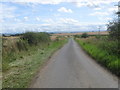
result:
<svg viewBox="0 0 120 90"><path fill-rule="evenodd" d="M76 39L80 46L98 63L112 73L120 76L120 57L117 53L118 42L109 40L106 36Z"/></svg>

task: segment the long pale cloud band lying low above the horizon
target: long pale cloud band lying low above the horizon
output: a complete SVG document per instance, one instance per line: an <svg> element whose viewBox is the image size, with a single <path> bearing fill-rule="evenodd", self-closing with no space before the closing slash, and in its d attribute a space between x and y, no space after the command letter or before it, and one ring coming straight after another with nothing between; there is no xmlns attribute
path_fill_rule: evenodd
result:
<svg viewBox="0 0 120 90"><path fill-rule="evenodd" d="M73 18L51 18L44 20L43 24L5 24L3 25L3 33L23 33L26 31L39 32L55 32L55 31L90 31L96 30L98 25L104 25L100 22L80 22Z"/></svg>

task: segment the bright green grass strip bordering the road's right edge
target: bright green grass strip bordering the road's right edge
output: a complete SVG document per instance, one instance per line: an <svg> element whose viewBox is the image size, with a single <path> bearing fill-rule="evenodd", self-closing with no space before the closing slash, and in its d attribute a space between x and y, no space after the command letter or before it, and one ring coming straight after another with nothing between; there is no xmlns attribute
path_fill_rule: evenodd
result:
<svg viewBox="0 0 120 90"><path fill-rule="evenodd" d="M97 44L93 44L85 39L77 39L78 44L98 63L106 67L109 71L120 76L120 58L115 54L110 54L107 50L100 48ZM99 41L98 41L99 43Z"/></svg>

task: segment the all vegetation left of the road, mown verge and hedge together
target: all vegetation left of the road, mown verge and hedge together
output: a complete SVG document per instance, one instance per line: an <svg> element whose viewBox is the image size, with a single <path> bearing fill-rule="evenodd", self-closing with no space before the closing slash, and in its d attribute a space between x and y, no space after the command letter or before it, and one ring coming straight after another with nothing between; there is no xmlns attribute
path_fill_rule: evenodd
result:
<svg viewBox="0 0 120 90"><path fill-rule="evenodd" d="M51 40L42 32L3 37L3 88L27 88L39 68L66 41L64 37Z"/></svg>

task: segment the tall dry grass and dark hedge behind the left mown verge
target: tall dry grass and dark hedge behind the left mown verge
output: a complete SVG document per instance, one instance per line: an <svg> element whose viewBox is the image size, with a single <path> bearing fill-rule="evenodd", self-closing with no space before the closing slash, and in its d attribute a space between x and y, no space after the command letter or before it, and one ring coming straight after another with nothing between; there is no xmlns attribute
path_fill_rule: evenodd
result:
<svg viewBox="0 0 120 90"><path fill-rule="evenodd" d="M37 46L45 47L49 45L49 42L49 34L44 32L26 32L17 39L3 38L2 70L7 71L10 68L9 63L15 61L16 59L23 58L31 51L37 50Z"/></svg>

